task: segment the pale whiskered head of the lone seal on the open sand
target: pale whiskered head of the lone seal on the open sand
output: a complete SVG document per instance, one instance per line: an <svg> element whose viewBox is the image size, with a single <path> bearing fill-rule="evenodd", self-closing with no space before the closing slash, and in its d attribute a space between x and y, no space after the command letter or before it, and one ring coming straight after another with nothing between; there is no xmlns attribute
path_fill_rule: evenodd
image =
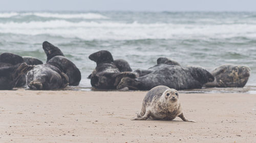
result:
<svg viewBox="0 0 256 143"><path fill-rule="evenodd" d="M179 101L179 92L175 89L167 89L163 92L162 97L167 103L175 103Z"/></svg>

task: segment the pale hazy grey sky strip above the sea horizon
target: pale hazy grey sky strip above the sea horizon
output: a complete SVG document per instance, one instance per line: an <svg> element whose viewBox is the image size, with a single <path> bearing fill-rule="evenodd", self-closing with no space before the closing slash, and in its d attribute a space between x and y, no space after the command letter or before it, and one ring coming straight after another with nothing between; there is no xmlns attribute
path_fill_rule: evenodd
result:
<svg viewBox="0 0 256 143"><path fill-rule="evenodd" d="M0 11L256 11L256 0L0 0Z"/></svg>

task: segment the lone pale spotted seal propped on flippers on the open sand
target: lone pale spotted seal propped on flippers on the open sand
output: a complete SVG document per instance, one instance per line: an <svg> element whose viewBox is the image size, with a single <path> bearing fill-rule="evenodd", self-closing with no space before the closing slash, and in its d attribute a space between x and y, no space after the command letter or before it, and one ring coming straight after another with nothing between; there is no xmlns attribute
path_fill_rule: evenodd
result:
<svg viewBox="0 0 256 143"><path fill-rule="evenodd" d="M179 96L178 91L163 85L151 89L143 99L137 118L132 120L174 120L179 117L185 122L196 122L185 118Z"/></svg>

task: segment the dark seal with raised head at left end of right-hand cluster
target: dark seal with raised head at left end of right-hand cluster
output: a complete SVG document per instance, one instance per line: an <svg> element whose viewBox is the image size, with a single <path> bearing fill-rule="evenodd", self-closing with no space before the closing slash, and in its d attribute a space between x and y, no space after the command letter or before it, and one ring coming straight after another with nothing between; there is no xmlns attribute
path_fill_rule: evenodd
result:
<svg viewBox="0 0 256 143"><path fill-rule="evenodd" d="M119 81L123 77L135 78L131 72L120 72L114 64L113 56L109 51L100 50L92 53L89 59L96 62L97 66L92 72L91 84L98 89L116 89Z"/></svg>

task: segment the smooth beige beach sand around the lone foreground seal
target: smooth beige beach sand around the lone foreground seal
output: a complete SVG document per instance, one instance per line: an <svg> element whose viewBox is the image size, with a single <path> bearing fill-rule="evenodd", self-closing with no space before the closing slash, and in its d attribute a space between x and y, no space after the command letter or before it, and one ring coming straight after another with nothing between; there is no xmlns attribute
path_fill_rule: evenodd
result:
<svg viewBox="0 0 256 143"><path fill-rule="evenodd" d="M0 142L256 142L256 95L181 94L198 123L131 121L145 94L0 91Z"/></svg>

